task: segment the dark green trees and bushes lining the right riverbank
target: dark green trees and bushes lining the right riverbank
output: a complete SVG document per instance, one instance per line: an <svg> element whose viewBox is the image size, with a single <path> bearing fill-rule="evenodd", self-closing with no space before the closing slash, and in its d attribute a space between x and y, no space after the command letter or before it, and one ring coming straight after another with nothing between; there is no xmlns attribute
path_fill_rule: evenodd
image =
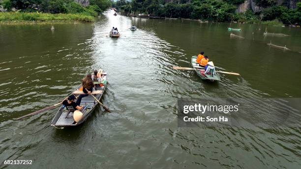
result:
<svg viewBox="0 0 301 169"><path fill-rule="evenodd" d="M277 0L255 0L261 9L253 12L237 12L237 5L244 0L119 0L113 4L127 13L145 13L167 18L187 18L217 22L236 21L259 23L278 20L283 24L301 24L301 2L295 9L287 7L287 0L276 4Z"/></svg>

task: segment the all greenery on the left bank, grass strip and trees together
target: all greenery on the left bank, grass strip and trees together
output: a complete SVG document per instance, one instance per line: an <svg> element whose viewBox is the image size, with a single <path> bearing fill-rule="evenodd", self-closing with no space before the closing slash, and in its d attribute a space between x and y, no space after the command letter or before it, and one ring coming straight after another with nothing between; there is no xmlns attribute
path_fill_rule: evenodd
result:
<svg viewBox="0 0 301 169"><path fill-rule="evenodd" d="M0 12L0 21L93 22L111 1L90 0L87 7L73 0L2 0L1 5L7 12Z"/></svg>

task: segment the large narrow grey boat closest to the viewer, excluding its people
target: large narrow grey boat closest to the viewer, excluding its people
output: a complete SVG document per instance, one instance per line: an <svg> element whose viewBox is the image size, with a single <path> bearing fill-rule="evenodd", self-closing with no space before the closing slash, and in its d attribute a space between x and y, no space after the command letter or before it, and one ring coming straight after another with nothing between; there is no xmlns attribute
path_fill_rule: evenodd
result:
<svg viewBox="0 0 301 169"><path fill-rule="evenodd" d="M103 73L103 81L102 82L94 82L94 84L103 84L103 86L96 87L96 90L92 92L92 94L100 100L106 87L107 87L107 73ZM74 95L80 95L84 93L80 88L82 85L79 85L72 93ZM77 126L82 124L93 112L93 110L96 108L98 102L91 96L83 97L80 106L87 106L87 108L82 111L83 117L78 121L75 122L73 119L73 113L69 112L65 106L61 105L60 109L54 116L54 118L51 121L51 126L54 126L56 128L62 128L62 127L71 127L71 126Z"/></svg>

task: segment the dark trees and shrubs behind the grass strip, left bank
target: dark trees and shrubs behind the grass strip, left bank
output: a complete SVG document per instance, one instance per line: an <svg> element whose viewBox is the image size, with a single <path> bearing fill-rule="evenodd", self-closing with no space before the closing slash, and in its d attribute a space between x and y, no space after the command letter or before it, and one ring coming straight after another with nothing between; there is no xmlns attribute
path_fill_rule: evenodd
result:
<svg viewBox="0 0 301 169"><path fill-rule="evenodd" d="M83 13L95 16L111 6L110 0L90 0L83 7L74 0L2 0L1 5L10 11L12 8L23 12Z"/></svg>

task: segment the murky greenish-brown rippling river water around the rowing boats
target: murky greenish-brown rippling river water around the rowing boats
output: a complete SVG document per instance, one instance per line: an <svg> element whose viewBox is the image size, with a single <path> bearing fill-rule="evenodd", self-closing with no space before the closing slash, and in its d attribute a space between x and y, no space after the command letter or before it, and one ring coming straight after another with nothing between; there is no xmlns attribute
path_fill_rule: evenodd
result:
<svg viewBox="0 0 301 169"><path fill-rule="evenodd" d="M131 31L131 24L137 26ZM113 16L95 23L0 25L0 169L301 168L300 127L178 127L177 99L300 98L301 29ZM110 38L112 27L120 38ZM233 32L245 39L230 38ZM291 36L264 36L268 32ZM267 43L291 51L273 48ZM198 52L222 71L201 80ZM13 118L60 102L94 69L108 73L102 98L84 124L50 126L57 109ZM269 117L269 114L263 114ZM300 122L300 113L296 120ZM32 165L4 165L32 160Z"/></svg>

